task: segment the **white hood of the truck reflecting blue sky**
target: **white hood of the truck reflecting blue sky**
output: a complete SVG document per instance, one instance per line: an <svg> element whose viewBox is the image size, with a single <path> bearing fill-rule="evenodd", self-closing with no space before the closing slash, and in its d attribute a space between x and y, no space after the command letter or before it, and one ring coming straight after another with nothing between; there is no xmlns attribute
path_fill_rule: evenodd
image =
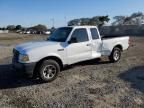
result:
<svg viewBox="0 0 144 108"><path fill-rule="evenodd" d="M16 50L21 53L27 53L28 51L40 48L40 47L50 47L59 44L59 42L52 41L36 41L36 42L28 42L24 44L19 44L15 47Z"/></svg>

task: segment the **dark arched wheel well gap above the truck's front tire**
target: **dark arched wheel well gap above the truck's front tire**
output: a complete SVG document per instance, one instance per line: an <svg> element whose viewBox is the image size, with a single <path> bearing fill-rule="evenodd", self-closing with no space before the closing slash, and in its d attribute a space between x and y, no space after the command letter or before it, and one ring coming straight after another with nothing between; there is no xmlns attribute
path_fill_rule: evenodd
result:
<svg viewBox="0 0 144 108"><path fill-rule="evenodd" d="M55 60L60 65L60 69L63 68L63 63L62 63L61 59L59 59L58 57L55 57L55 56L49 56L49 57L45 57L45 58L39 60L36 63L36 66L35 66L35 69L34 69L34 73L37 72L37 69L39 68L39 65L45 60Z"/></svg>

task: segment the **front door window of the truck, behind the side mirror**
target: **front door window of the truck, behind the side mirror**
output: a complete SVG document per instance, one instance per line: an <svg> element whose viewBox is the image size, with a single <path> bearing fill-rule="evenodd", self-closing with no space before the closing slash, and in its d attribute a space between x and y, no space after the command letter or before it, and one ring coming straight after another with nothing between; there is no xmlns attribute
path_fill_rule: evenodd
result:
<svg viewBox="0 0 144 108"><path fill-rule="evenodd" d="M75 43L88 41L89 39L88 39L87 30L85 28L76 29L71 36L71 40L75 41Z"/></svg>

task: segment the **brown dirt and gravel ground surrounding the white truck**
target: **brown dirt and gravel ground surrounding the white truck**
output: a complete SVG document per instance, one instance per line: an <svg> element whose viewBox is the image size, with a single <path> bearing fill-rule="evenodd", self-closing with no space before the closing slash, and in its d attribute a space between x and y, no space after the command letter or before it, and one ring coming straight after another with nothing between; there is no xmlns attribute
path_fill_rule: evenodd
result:
<svg viewBox="0 0 144 108"><path fill-rule="evenodd" d="M103 57L65 68L40 83L11 68L12 48L46 36L0 34L0 108L144 108L144 37L118 63Z"/></svg>

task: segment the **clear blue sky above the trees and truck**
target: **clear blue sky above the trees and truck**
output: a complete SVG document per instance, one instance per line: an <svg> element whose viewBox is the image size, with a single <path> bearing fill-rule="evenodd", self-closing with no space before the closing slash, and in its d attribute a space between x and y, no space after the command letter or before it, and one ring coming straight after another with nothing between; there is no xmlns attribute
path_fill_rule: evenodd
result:
<svg viewBox="0 0 144 108"><path fill-rule="evenodd" d="M0 27L65 26L75 18L144 12L144 0L0 0Z"/></svg>

